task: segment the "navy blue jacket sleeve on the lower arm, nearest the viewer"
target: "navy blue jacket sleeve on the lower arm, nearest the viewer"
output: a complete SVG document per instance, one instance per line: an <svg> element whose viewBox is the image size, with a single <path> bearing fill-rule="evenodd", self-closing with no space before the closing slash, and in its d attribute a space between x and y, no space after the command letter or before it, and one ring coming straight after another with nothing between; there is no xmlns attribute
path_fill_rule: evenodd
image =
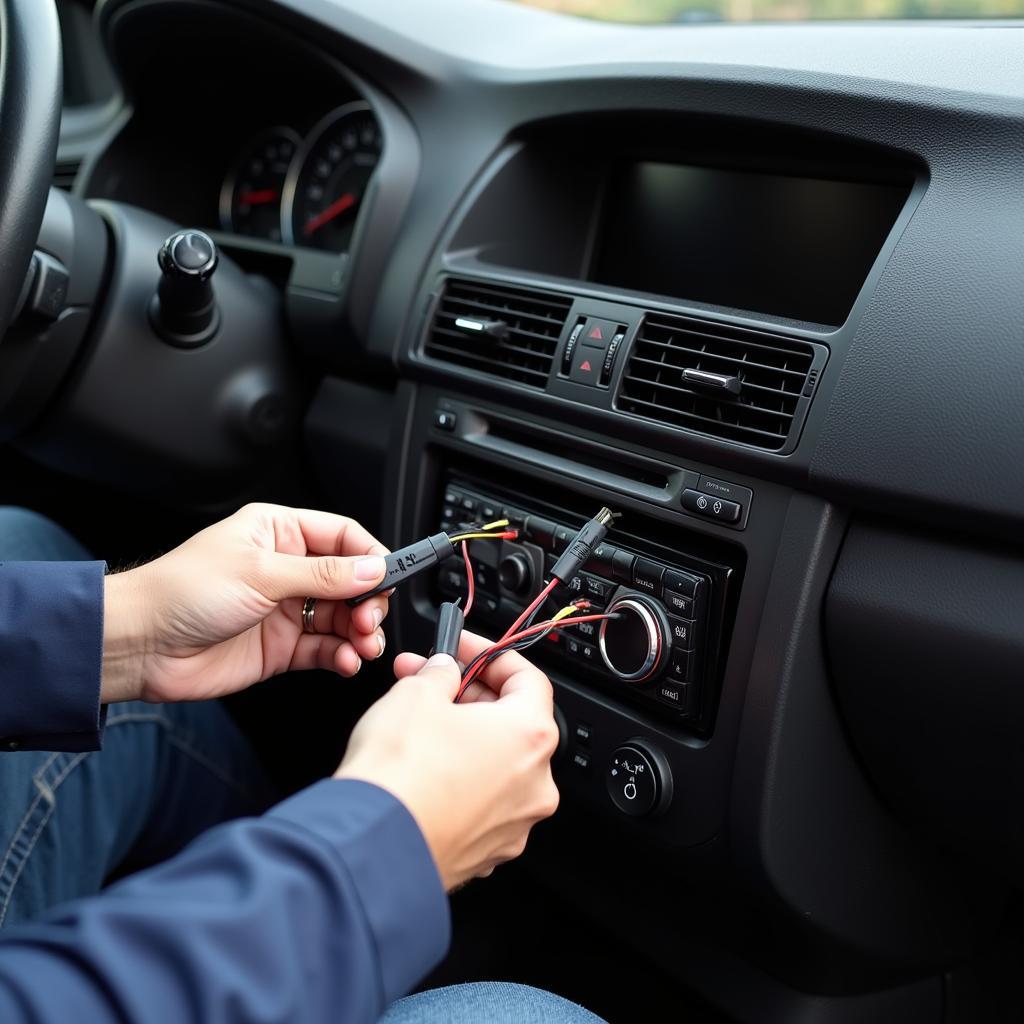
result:
<svg viewBox="0 0 1024 1024"><path fill-rule="evenodd" d="M370 1024L449 938L409 811L370 783L328 780L0 933L0 1021Z"/></svg>

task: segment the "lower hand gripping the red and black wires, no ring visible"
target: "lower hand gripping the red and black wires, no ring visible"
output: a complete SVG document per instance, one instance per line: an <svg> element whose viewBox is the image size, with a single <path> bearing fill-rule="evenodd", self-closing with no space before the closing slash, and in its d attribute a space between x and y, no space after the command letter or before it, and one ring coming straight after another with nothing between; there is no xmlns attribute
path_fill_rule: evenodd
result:
<svg viewBox="0 0 1024 1024"><path fill-rule="evenodd" d="M463 633L460 657L487 646ZM446 654L395 659L398 682L356 724L336 778L392 793L416 818L444 887L519 856L558 807L551 683L515 652L453 703L461 673Z"/></svg>

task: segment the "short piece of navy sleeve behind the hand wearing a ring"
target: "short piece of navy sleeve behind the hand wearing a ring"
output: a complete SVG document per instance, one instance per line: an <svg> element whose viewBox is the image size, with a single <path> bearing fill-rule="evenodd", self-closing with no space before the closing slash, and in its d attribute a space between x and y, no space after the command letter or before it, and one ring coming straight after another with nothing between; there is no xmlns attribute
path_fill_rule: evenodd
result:
<svg viewBox="0 0 1024 1024"><path fill-rule="evenodd" d="M95 751L103 562L0 562L0 750Z"/></svg>

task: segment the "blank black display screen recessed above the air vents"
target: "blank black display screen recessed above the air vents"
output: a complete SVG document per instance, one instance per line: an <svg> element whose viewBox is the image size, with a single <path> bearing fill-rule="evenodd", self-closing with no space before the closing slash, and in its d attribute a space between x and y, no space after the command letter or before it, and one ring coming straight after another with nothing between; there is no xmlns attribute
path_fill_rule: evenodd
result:
<svg viewBox="0 0 1024 1024"><path fill-rule="evenodd" d="M591 280L842 324L909 184L628 164L603 201Z"/></svg>

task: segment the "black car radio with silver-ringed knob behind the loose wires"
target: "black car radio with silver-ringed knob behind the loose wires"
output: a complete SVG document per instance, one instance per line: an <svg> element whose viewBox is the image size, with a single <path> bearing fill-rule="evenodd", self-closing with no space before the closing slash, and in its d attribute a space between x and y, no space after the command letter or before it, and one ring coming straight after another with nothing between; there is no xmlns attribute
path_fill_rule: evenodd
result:
<svg viewBox="0 0 1024 1024"><path fill-rule="evenodd" d="M582 525L553 516L511 505L458 478L444 486L440 529L450 532L469 521L502 517L519 532L514 541L469 542L474 617L504 629L551 579L556 559ZM712 710L707 684L717 668L731 570L702 559L670 564L639 548L600 544L549 599L548 610L554 611L566 599L585 597L595 609L617 612L615 618L553 632L538 648L573 678L601 685L659 717L707 725ZM463 561L450 559L440 566L438 586L445 597L465 595L467 584Z"/></svg>

